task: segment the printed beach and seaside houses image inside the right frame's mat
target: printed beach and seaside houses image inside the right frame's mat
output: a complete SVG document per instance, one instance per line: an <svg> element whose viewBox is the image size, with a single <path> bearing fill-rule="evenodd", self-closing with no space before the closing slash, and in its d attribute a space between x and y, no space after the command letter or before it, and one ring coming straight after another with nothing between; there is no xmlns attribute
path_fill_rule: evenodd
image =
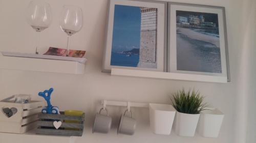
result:
<svg viewBox="0 0 256 143"><path fill-rule="evenodd" d="M218 14L176 11L177 70L222 73Z"/></svg>

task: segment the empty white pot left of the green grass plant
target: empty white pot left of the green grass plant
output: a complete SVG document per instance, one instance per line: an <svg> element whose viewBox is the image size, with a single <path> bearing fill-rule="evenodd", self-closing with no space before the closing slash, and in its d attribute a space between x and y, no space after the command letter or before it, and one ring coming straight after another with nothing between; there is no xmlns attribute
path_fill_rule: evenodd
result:
<svg viewBox="0 0 256 143"><path fill-rule="evenodd" d="M150 103L150 126L155 134L169 135L175 118L176 110L169 104Z"/></svg>

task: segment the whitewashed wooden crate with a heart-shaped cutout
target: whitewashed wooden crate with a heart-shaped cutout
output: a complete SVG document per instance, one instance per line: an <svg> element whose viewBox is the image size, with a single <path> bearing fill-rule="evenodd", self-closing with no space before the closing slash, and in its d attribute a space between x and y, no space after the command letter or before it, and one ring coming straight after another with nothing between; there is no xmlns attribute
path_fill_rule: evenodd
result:
<svg viewBox="0 0 256 143"><path fill-rule="evenodd" d="M0 102L0 132L25 133L36 128L38 113L45 103L42 101L30 101L30 103L14 103L14 101ZM17 112L7 117L4 108L16 108Z"/></svg>

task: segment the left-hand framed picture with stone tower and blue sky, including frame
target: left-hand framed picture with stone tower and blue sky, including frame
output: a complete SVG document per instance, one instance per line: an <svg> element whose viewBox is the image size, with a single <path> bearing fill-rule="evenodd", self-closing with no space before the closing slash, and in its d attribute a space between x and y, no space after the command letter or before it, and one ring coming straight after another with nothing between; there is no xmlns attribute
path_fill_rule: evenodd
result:
<svg viewBox="0 0 256 143"><path fill-rule="evenodd" d="M108 15L103 71L166 70L166 2L110 0Z"/></svg>

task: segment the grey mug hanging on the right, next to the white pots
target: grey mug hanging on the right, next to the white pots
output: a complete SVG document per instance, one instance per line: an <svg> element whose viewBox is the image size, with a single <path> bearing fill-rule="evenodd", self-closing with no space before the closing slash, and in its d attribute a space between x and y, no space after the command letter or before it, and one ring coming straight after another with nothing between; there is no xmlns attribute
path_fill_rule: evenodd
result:
<svg viewBox="0 0 256 143"><path fill-rule="evenodd" d="M133 135L136 129L136 120L133 118L133 113L131 117L126 116L128 110L125 110L124 114L120 117L119 127L117 129L117 134Z"/></svg>

